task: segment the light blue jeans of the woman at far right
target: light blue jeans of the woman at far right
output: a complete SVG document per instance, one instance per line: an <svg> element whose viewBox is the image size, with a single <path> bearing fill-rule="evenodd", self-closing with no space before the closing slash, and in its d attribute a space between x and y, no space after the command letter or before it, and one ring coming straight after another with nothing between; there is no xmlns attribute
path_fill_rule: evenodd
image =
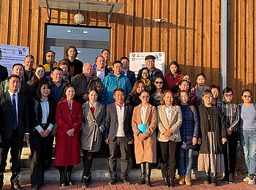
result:
<svg viewBox="0 0 256 190"><path fill-rule="evenodd" d="M246 172L256 175L256 129L240 129L240 144L244 151Z"/></svg>

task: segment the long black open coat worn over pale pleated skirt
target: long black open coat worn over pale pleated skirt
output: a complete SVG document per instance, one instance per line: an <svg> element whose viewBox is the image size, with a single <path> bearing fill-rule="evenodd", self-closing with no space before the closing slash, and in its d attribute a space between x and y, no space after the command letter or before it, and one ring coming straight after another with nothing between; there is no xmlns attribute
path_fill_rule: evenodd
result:
<svg viewBox="0 0 256 190"><path fill-rule="evenodd" d="M208 115L206 113L206 106L201 104L198 109L200 115L200 136L202 138L202 145L200 147L199 153L209 153L207 135ZM210 117L212 117L211 121L214 121L210 122L210 125L214 129L215 153L222 153L222 138L226 138L227 136L224 115L222 110L220 110L219 107L215 105L212 105L210 115Z"/></svg>

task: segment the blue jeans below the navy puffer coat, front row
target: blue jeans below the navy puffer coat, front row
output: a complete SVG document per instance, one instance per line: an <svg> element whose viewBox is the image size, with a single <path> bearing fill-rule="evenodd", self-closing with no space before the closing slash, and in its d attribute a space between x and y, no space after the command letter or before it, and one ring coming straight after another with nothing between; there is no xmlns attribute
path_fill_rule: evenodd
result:
<svg viewBox="0 0 256 190"><path fill-rule="evenodd" d="M178 158L178 174L179 175L191 175L193 165L193 149L179 149Z"/></svg>

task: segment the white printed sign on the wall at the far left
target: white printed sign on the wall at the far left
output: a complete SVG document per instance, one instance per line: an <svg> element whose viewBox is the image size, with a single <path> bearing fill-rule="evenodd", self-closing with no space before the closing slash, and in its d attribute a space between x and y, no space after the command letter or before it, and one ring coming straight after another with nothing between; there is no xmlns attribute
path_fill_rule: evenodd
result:
<svg viewBox="0 0 256 190"><path fill-rule="evenodd" d="M8 74L12 73L13 64L24 64L24 58L29 54L29 47L0 44L0 64L7 67Z"/></svg>

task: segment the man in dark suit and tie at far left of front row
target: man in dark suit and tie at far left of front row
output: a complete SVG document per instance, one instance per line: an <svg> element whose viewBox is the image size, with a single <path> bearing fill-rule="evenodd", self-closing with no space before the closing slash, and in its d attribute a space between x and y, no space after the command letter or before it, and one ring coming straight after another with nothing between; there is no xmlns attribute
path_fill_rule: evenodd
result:
<svg viewBox="0 0 256 190"><path fill-rule="evenodd" d="M19 184L20 153L23 140L29 140L29 112L26 96L18 93L20 77L10 75L7 79L8 91L0 95L0 189L4 185L4 170L7 154L11 148L12 177L10 178L12 189L22 189Z"/></svg>

